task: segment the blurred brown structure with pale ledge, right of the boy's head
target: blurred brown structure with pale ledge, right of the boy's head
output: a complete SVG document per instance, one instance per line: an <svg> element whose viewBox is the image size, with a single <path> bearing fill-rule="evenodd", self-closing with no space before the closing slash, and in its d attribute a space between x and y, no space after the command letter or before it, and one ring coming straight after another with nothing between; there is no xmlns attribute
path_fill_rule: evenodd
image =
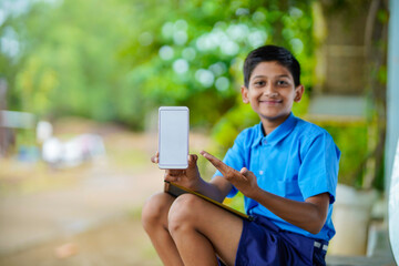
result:
<svg viewBox="0 0 399 266"><path fill-rule="evenodd" d="M320 1L315 4L317 82L309 115L327 120L365 120L369 90L370 0Z"/></svg>

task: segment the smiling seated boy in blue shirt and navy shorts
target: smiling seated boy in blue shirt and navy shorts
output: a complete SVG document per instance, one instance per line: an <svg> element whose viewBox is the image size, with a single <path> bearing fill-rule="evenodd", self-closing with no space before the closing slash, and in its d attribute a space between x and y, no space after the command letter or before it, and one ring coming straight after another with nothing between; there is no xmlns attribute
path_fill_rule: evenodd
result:
<svg viewBox="0 0 399 266"><path fill-rule="evenodd" d="M165 181L219 202L241 191L254 219L192 194L154 195L142 222L165 265L325 265L340 152L325 130L293 115L304 93L299 75L284 48L248 54L242 96L260 123L237 136L223 162L201 152L218 170L211 182L201 178L196 155L187 170L166 171Z"/></svg>

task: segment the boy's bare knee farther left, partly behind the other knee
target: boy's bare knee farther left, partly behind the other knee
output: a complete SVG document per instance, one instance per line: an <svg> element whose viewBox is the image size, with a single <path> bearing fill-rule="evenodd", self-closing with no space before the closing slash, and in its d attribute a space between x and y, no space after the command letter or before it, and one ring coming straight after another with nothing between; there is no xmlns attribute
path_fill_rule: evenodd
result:
<svg viewBox="0 0 399 266"><path fill-rule="evenodd" d="M142 209L142 224L144 229L162 224L167 218L167 212L173 197L167 193L160 193L151 196Z"/></svg>

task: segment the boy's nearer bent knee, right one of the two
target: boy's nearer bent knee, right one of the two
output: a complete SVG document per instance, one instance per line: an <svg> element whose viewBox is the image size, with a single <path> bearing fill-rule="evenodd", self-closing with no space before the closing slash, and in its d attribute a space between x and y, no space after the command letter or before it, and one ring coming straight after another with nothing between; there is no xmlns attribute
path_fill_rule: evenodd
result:
<svg viewBox="0 0 399 266"><path fill-rule="evenodd" d="M176 198L168 212L168 231L173 234L180 229L195 227L196 215L201 213L202 200L192 194L183 194Z"/></svg>

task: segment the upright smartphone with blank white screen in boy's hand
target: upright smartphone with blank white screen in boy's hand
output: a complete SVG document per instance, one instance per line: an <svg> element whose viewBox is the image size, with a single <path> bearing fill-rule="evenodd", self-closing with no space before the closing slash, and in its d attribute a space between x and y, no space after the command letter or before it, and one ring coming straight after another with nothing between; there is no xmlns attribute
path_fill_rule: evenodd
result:
<svg viewBox="0 0 399 266"><path fill-rule="evenodd" d="M160 168L188 167L190 111L186 106L158 110Z"/></svg>

